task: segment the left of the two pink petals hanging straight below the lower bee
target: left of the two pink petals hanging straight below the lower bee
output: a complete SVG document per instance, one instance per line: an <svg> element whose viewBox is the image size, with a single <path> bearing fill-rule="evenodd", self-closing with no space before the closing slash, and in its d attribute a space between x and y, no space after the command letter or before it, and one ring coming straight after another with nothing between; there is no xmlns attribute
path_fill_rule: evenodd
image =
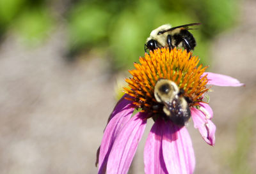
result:
<svg viewBox="0 0 256 174"><path fill-rule="evenodd" d="M146 174L168 173L162 150L163 121L156 120L152 126L144 148L144 164Z"/></svg>

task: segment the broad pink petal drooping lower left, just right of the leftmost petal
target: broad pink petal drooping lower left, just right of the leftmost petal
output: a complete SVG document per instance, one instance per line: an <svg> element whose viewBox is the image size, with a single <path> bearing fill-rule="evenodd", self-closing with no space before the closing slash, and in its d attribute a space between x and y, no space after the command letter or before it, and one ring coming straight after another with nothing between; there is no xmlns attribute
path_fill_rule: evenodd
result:
<svg viewBox="0 0 256 174"><path fill-rule="evenodd" d="M109 154L107 173L127 173L147 123L147 113L138 112L122 127Z"/></svg>

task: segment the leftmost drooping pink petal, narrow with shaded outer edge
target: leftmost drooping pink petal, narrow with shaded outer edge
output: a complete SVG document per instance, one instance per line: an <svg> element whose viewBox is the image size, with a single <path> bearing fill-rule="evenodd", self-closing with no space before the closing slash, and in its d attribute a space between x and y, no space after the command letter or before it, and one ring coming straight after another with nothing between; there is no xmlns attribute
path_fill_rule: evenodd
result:
<svg viewBox="0 0 256 174"><path fill-rule="evenodd" d="M111 152L113 142L115 141L121 128L131 118L134 111L134 108L131 108L131 104L124 106L122 109L120 109L118 106L116 106L116 108L119 110L119 112L116 112L115 115L113 114L112 119L109 121L104 131L101 141L99 152L99 173L104 173L106 170L106 164L108 162L108 156Z"/></svg>

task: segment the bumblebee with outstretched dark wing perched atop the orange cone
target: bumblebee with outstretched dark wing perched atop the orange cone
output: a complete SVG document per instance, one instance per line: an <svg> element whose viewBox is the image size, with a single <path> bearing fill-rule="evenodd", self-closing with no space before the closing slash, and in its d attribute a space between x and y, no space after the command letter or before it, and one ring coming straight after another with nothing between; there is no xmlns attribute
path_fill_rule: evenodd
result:
<svg viewBox="0 0 256 174"><path fill-rule="evenodd" d="M190 52L196 47L196 40L194 36L188 31L189 26L200 25L200 23L180 25L172 27L170 24L161 25L154 29L147 38L144 50L154 50L161 47L183 47Z"/></svg>

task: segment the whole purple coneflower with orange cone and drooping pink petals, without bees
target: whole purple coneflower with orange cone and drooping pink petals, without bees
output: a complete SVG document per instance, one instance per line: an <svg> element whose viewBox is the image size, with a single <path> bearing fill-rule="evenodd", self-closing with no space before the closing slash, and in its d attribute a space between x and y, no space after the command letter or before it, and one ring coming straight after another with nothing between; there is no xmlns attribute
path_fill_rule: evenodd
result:
<svg viewBox="0 0 256 174"><path fill-rule="evenodd" d="M140 57L129 71L132 78L125 95L118 101L109 117L99 151L99 173L127 173L145 130L147 119L154 125L148 134L144 149L145 173L193 173L195 155L186 126L175 124L163 112L161 103L154 97L159 79L167 79L182 89L194 126L209 144L215 143L216 127L211 121L212 109L204 99L209 86L241 86L235 78L205 72L198 66L198 57L174 48L169 52L161 48ZM181 90L180 90L181 91ZM157 107L156 107L157 106ZM140 112L132 116L134 109ZM167 118L167 119L166 119Z"/></svg>

